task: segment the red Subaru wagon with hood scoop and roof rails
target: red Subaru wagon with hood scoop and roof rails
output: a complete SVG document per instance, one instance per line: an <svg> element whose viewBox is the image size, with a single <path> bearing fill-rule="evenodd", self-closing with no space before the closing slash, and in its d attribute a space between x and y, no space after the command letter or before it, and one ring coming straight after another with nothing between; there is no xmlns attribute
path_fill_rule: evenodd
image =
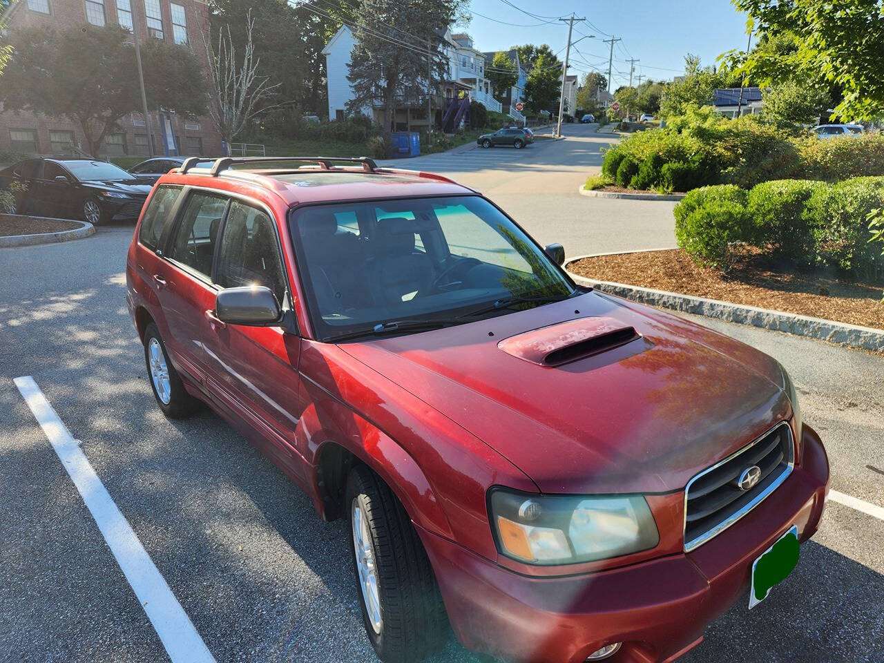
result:
<svg viewBox="0 0 884 663"><path fill-rule="evenodd" d="M244 161L159 179L129 309L166 415L208 404L350 523L381 659L450 623L517 661L671 661L796 566L828 461L771 357L575 286L450 179Z"/></svg>

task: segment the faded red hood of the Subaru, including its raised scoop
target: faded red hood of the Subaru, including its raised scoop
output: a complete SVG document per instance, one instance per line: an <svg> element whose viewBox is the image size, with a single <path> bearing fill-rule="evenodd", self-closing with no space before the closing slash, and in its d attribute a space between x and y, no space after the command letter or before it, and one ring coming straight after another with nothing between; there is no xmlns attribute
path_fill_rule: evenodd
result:
<svg viewBox="0 0 884 663"><path fill-rule="evenodd" d="M541 492L683 489L791 413L770 357L602 293L341 347Z"/></svg>

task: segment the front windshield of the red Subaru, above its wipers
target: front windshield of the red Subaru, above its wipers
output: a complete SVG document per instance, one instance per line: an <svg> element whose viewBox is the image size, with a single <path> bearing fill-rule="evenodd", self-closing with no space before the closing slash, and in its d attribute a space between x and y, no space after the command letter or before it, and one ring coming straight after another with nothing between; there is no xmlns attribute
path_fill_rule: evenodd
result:
<svg viewBox="0 0 884 663"><path fill-rule="evenodd" d="M495 301L574 292L543 251L478 196L305 207L293 212L292 237L320 339L401 320L450 324Z"/></svg>

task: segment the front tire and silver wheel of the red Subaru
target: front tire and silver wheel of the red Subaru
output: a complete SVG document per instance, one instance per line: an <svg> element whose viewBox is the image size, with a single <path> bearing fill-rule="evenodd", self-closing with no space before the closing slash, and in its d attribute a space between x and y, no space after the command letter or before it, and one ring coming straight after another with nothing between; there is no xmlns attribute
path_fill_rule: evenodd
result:
<svg viewBox="0 0 884 663"><path fill-rule="evenodd" d="M344 504L362 621L377 658L384 663L415 663L437 652L447 635L447 615L430 560L405 508L377 475L361 465L347 476ZM361 541L357 530L362 532ZM366 598L370 590L360 575L357 546L364 551L363 559L368 552L374 561L374 617L369 608L372 600Z"/></svg>

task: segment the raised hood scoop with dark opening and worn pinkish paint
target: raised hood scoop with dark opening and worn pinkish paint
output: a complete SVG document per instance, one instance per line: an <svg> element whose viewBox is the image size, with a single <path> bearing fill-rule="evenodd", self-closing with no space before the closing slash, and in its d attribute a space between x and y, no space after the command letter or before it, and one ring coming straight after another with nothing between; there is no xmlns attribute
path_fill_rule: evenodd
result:
<svg viewBox="0 0 884 663"><path fill-rule="evenodd" d="M642 338L635 327L610 317L582 317L511 336L498 347L538 366L561 366Z"/></svg>

